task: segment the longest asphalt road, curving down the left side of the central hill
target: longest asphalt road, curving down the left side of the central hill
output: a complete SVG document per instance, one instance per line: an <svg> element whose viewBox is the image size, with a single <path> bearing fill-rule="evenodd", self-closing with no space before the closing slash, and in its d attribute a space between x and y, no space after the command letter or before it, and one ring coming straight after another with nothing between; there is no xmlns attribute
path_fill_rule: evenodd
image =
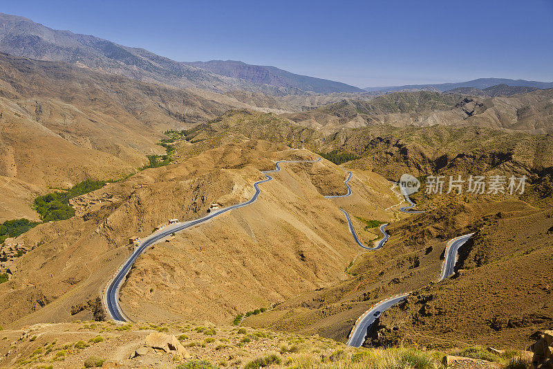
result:
<svg viewBox="0 0 553 369"><path fill-rule="evenodd" d="M176 233L179 231L182 231L186 228L190 228L191 226L196 226L197 224L206 222L209 219L212 219L218 215L221 215L223 213L227 213L227 211L242 208L243 206L247 206L252 204L254 201L256 201L257 197L259 197L259 194L261 193L261 190L259 189L259 185L261 183L265 183L272 180L272 177L268 173L273 172L279 172L281 170L279 164L281 163L315 163L317 161L321 160L321 158L317 160L281 160L277 161L275 163L275 169L274 170L267 170L265 172L262 172L265 174L265 179L261 181L257 181L254 183L255 193L252 196L251 199L248 201L245 201L241 204L236 204L233 206L228 206L227 208L222 208L220 210L215 211L214 213L209 213L208 215L205 215L205 217L201 217L200 219L192 220L190 222L184 222L184 223L177 223L173 224L171 226L166 226L165 228L162 228L160 231L157 231L148 237L145 237L141 242L138 249L136 249L132 255L129 257L129 259L122 264L119 271L115 273L115 276L113 276L113 280L109 282L109 285L106 288L106 293L104 295L104 305L106 306L106 310L111 316L111 318L114 321L130 321L130 319L122 312L121 307L119 306L119 289L121 288L122 282L125 280L126 275L131 270L131 267L133 267L133 264L138 259L138 257L144 253L144 251L151 246L153 243L158 242L159 240L162 240L163 238L171 235L172 233ZM351 177L351 176L350 176ZM347 185L347 183L346 183ZM349 188L349 186L348 186ZM351 192L351 190L349 190Z"/></svg>

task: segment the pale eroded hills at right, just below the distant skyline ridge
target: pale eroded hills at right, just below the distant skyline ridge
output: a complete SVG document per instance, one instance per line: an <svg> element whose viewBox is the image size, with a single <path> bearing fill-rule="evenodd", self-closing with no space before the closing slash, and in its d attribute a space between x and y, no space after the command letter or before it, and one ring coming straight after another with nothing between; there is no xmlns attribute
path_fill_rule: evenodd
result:
<svg viewBox="0 0 553 369"><path fill-rule="evenodd" d="M324 132L368 125L452 125L547 134L553 132L552 96L552 89L494 98L462 98L431 91L396 92L368 101L346 99L286 116Z"/></svg>

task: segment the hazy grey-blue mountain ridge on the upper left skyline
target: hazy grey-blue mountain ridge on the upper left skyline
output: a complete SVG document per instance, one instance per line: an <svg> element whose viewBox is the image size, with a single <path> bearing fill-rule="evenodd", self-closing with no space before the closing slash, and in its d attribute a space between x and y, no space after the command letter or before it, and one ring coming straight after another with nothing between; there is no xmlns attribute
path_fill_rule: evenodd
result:
<svg viewBox="0 0 553 369"><path fill-rule="evenodd" d="M68 62L104 73L124 75L142 82L160 82L174 87L196 87L208 91L244 89L285 95L305 93L309 89L322 92L360 92L357 87L340 82L294 75L274 67L247 66L270 71L270 78L234 73L238 78L214 73L176 62L143 48L132 48L91 35L68 30L54 30L30 19L0 13L0 51L36 60ZM255 74L255 73L254 73ZM258 73L259 74L259 73ZM242 76L244 78L240 78ZM313 90L315 91L315 90Z"/></svg>

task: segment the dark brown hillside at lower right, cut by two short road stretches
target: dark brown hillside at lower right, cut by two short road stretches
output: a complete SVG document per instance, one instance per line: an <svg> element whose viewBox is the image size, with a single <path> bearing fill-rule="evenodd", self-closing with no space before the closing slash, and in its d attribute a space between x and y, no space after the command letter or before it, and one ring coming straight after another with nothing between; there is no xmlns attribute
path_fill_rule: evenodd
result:
<svg viewBox="0 0 553 369"><path fill-rule="evenodd" d="M350 280L302 294L244 324L346 341L371 305L414 291L406 303L382 314L366 345L524 349L530 334L550 329L550 210L466 197L428 206L427 213L388 226L390 240L358 258L348 269ZM436 283L447 240L474 231L474 240L460 252L458 276Z"/></svg>

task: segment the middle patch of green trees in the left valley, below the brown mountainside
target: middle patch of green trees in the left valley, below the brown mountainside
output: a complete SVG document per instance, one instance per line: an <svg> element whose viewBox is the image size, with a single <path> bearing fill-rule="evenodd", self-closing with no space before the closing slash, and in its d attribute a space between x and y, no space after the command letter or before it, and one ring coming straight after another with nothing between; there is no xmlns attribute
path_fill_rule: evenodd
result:
<svg viewBox="0 0 553 369"><path fill-rule="evenodd" d="M53 222L69 219L75 215L75 209L69 205L73 197L98 190L105 186L103 181L92 181L87 179L77 183L65 192L52 192L48 195L39 196L35 199L35 210L40 214L42 222Z"/></svg>

